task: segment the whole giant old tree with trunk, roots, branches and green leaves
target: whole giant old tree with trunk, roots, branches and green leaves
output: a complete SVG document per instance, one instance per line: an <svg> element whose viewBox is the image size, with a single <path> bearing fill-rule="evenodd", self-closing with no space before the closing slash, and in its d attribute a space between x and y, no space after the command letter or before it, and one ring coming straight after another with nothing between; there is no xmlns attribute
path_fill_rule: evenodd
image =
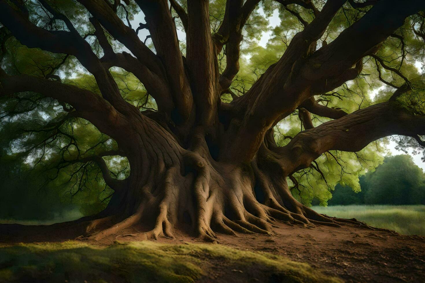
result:
<svg viewBox="0 0 425 283"><path fill-rule="evenodd" d="M246 50L274 9L278 56L249 68L258 52ZM276 219L338 227L297 202L297 172L326 180L318 158L340 164L335 152L389 135L425 145L414 67L424 9L422 0L0 0L2 125L26 122L7 146L26 143L50 182L72 168L73 194L111 188L104 210L73 222L95 239L140 222L147 238L183 227L205 240L270 234ZM374 102L341 106L376 82L386 87ZM302 131L277 134L292 116ZM127 157L129 173L111 172L121 160L111 156Z"/></svg>

